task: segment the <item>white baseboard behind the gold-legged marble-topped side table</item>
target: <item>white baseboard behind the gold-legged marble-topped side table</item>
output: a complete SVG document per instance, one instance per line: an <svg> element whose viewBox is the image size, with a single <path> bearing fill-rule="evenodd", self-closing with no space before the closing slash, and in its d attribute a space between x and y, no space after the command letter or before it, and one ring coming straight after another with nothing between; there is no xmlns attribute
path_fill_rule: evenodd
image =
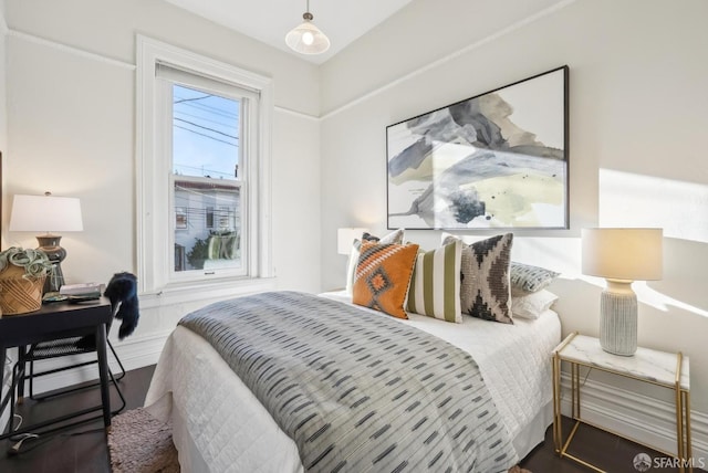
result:
<svg viewBox="0 0 708 473"><path fill-rule="evenodd" d="M562 377L563 414L571 413L570 377ZM675 453L676 408L671 402L586 379L581 388L583 419L656 450ZM691 445L696 462L708 465L708 416L691 410ZM564 434L566 434L565 432ZM698 465L699 463L696 463Z"/></svg>

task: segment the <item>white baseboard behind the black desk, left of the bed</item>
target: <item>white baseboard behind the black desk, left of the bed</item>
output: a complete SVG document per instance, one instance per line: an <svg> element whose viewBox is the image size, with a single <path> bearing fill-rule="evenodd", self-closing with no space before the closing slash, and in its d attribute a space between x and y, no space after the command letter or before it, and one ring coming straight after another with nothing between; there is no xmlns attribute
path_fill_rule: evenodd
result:
<svg viewBox="0 0 708 473"><path fill-rule="evenodd" d="M121 362L123 362L125 369L131 370L157 364L159 354L163 351L163 346L165 345L165 340L167 340L168 335L169 332L143 337L134 335L125 341L111 339L111 343L118 354ZM116 374L121 368L115 361L111 350L107 351L108 365L111 370ZM75 356L72 361L79 362L81 360L95 359L95 354ZM52 369L66 364L66 358L62 358L61 361L42 361L35 365L35 370ZM95 364L39 377L34 381L34 390L39 393L94 379L98 379L98 367Z"/></svg>

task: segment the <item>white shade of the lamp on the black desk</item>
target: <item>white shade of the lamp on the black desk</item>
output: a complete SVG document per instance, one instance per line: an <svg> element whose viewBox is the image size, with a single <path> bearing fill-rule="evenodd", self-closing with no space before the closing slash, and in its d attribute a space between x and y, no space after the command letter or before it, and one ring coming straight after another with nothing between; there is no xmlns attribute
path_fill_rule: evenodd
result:
<svg viewBox="0 0 708 473"><path fill-rule="evenodd" d="M10 228L12 232L83 231L81 201L75 197L14 196Z"/></svg>

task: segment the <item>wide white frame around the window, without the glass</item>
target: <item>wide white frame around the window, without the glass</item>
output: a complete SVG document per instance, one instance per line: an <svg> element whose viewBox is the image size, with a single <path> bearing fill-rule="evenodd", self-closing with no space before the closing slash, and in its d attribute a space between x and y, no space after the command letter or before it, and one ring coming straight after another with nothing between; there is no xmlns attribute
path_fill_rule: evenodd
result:
<svg viewBox="0 0 708 473"><path fill-rule="evenodd" d="M272 266L271 230L271 129L273 111L273 84L270 77L226 64L210 57L157 41L143 35L136 36L137 84L136 84L136 160L137 160L137 267L138 284L143 294L163 294L185 288L204 290L209 285L235 287L248 286L254 281L274 276ZM206 271L196 277L173 277L170 267L174 248L165 242L173 241L174 212L169 197L171 190L171 156L162 150L171 148L171 135L159 134L160 119L159 86L156 78L158 64L206 76L227 84L250 88L260 94L258 133L252 149L253 162L249 162L244 176L246 212L248 219L248 267L246 275L235 276ZM195 272L197 273L197 272Z"/></svg>

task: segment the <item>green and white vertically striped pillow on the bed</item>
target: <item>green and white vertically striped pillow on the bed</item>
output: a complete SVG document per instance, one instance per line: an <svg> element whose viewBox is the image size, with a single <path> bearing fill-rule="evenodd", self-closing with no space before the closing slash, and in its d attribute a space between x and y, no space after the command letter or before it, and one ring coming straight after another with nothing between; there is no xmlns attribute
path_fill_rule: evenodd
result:
<svg viewBox="0 0 708 473"><path fill-rule="evenodd" d="M433 251L419 251L408 290L407 311L460 324L461 259L460 241Z"/></svg>

